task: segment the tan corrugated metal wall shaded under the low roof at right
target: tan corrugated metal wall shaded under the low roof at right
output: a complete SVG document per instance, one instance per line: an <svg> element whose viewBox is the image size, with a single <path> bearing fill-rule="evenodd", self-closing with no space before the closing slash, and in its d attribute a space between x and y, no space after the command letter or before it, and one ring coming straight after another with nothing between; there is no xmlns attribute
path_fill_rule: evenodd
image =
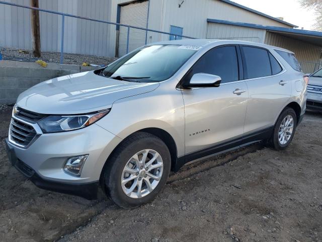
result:
<svg viewBox="0 0 322 242"><path fill-rule="evenodd" d="M303 72L312 73L314 63L320 62L322 48L300 40L282 36L277 33L267 32L265 44L278 46L293 51L301 63ZM311 64L310 64L311 63Z"/></svg>

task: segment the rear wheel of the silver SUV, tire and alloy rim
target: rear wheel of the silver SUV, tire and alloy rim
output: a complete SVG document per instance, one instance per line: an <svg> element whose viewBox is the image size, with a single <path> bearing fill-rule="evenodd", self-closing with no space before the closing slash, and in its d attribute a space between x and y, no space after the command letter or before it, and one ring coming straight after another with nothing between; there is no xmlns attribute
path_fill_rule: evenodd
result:
<svg viewBox="0 0 322 242"><path fill-rule="evenodd" d="M294 137L296 125L297 118L294 109L285 108L277 119L269 142L270 145L276 150L286 148Z"/></svg>

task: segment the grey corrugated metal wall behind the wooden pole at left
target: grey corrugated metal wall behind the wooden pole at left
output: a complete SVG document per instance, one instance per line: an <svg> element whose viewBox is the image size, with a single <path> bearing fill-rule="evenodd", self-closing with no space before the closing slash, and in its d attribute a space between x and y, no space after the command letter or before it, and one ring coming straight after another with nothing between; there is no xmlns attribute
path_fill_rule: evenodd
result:
<svg viewBox="0 0 322 242"><path fill-rule="evenodd" d="M29 0L9 2L29 6ZM110 2L106 0L41 0L42 9L110 20ZM104 23L65 17L64 52L101 56L114 55ZM61 16L40 12L42 51L60 51ZM114 27L115 28L115 27ZM31 49L30 10L0 4L0 46Z"/></svg>

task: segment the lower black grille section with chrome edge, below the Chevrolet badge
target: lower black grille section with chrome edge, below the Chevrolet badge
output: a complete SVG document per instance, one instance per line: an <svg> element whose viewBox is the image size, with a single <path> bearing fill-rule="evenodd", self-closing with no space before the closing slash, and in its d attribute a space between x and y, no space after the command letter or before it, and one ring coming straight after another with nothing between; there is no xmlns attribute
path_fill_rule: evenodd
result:
<svg viewBox="0 0 322 242"><path fill-rule="evenodd" d="M35 138L36 131L31 126L16 118L11 119L10 124L10 139L14 141L17 145L26 147Z"/></svg>

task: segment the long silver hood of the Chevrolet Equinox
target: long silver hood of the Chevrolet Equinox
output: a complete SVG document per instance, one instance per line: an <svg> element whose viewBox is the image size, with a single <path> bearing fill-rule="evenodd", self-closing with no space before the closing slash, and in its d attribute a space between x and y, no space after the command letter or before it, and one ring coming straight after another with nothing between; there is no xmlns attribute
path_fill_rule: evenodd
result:
<svg viewBox="0 0 322 242"><path fill-rule="evenodd" d="M44 114L81 114L110 108L118 99L155 90L159 83L119 81L94 71L50 79L21 93L17 106Z"/></svg>

